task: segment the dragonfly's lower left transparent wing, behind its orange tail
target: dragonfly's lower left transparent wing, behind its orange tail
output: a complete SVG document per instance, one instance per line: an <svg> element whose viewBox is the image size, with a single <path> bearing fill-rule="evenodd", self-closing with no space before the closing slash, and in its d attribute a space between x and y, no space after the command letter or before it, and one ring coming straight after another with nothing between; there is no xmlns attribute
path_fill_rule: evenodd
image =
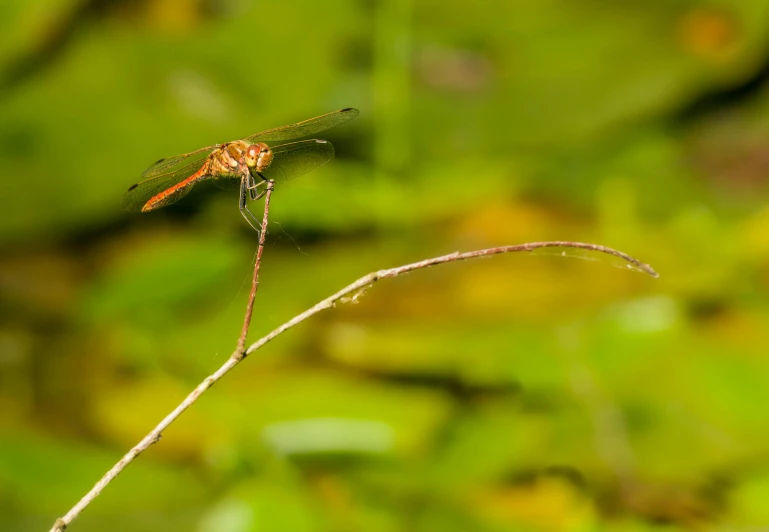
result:
<svg viewBox="0 0 769 532"><path fill-rule="evenodd" d="M123 194L121 206L127 211L141 211L149 200L172 188L171 193L153 203L152 207L147 210L159 209L180 200L187 195L195 183L206 177L207 174L195 175L203 168L203 164L201 161L193 161L173 172L167 172L131 185ZM183 184L185 180L189 182Z"/></svg>

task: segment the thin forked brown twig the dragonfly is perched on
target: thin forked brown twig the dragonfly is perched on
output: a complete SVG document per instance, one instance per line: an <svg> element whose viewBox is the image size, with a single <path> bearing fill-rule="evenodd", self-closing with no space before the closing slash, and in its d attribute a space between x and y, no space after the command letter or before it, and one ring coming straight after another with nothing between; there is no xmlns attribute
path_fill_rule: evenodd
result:
<svg viewBox="0 0 769 532"><path fill-rule="evenodd" d="M262 236L260 237L260 239L263 239L264 229L266 228L264 226L266 224L266 218L267 218L267 209L265 208L265 218L264 218L265 222L263 222ZM263 246L263 241L260 240L260 250L262 246ZM581 249L581 250L605 253L624 260L627 263L628 267L630 267L631 269L645 272L651 275L652 277L657 277L657 272L655 272L652 269L652 267L649 266L648 264L644 264L643 262L640 262L639 260L631 257L630 255L622 253L621 251L617 251L615 249L608 248L605 246L600 246L598 244L585 244L582 242L563 242L563 241L531 242L528 244L520 244L517 246L501 246L501 247L490 248L490 249L469 251L467 253L456 252L456 253L451 253L449 255L443 255L441 257L434 257L434 258L426 259L420 262L414 262L412 264L406 264L404 266L399 266L397 268L390 268L388 270L379 270L377 272L369 273L368 275L361 277L354 283L341 289L334 295L324 299L323 301L313 306L312 308L302 312L298 316L287 321L277 329L273 330L266 336L262 337L261 339L251 344L248 347L248 349L243 351L240 346L240 340L244 340L245 338L245 332L247 332L248 321L249 321L247 319L246 322L244 323L244 332L241 333L241 338L238 342L238 348L235 350L232 356L230 356L230 358L227 359L227 361L222 365L222 367L220 367L218 370L216 370L216 372L206 377L203 380L203 382L201 382L184 399L184 401L181 402L179 406L177 406L170 414L168 414L154 429L152 429L152 431L149 434L147 434L147 436L144 437L144 439L142 439L133 449L131 449L123 458L121 458L117 464L115 464L109 471L107 471L107 473L102 477L102 479L96 483L96 485L91 489L91 491L89 491L80 500L80 502L78 502L64 517L57 519L56 523L51 529L51 532L63 532L64 529L80 514L80 512L82 512L83 509L86 506L88 506L88 504L90 504L91 501L93 501L93 499L95 499L101 493L101 491L107 486L107 484L109 484L129 463L131 463L137 456L139 456L139 454L145 451L150 445L160 441L163 431L171 423L173 423L176 420L176 418L178 418L182 414L182 412L187 410L187 408L189 408L195 401L197 401L198 398L206 390L208 390L215 382L217 382L224 375L226 375L227 372L229 372L232 368L234 368L247 355L253 353L254 351L259 349L269 341L273 340L275 337L284 333L288 329L291 329L292 327L298 325L299 323L305 321L311 316L314 316L315 314L318 314L323 310L333 307L337 302L346 302L346 301L356 300L363 292L365 292L365 290L369 286L371 286L373 283L375 283L380 279L397 277L399 275L403 275L404 273L409 273L414 270L418 270L422 268L428 268L430 266L436 266L438 264L458 262L458 261L474 259L478 257L488 257L491 255L499 255L502 253L513 253L518 251L534 251L535 249L541 249L541 248L572 248L572 249ZM256 287L258 286L257 269L258 269L260 258L261 258L261 255L258 255L257 263L255 266L254 282L252 284L251 296L255 295ZM253 311L253 297L249 299L247 313L250 313L252 311Z"/></svg>

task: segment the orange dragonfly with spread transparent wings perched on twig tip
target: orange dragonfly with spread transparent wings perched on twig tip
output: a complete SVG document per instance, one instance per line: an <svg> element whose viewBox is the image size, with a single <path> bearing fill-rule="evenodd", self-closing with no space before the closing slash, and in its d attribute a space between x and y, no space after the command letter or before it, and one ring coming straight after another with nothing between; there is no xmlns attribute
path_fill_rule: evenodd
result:
<svg viewBox="0 0 769 532"><path fill-rule="evenodd" d="M297 124L268 129L242 140L160 159L144 171L144 181L128 188L122 206L128 211L154 211L180 200L195 183L207 179L223 188L240 184L240 212L249 225L259 231L259 222L247 204L249 198L253 201L264 194L259 192L259 187L268 180L281 182L306 174L334 157L334 147L325 140L302 140L273 147L265 142L307 137L356 116L358 110L350 107Z"/></svg>

